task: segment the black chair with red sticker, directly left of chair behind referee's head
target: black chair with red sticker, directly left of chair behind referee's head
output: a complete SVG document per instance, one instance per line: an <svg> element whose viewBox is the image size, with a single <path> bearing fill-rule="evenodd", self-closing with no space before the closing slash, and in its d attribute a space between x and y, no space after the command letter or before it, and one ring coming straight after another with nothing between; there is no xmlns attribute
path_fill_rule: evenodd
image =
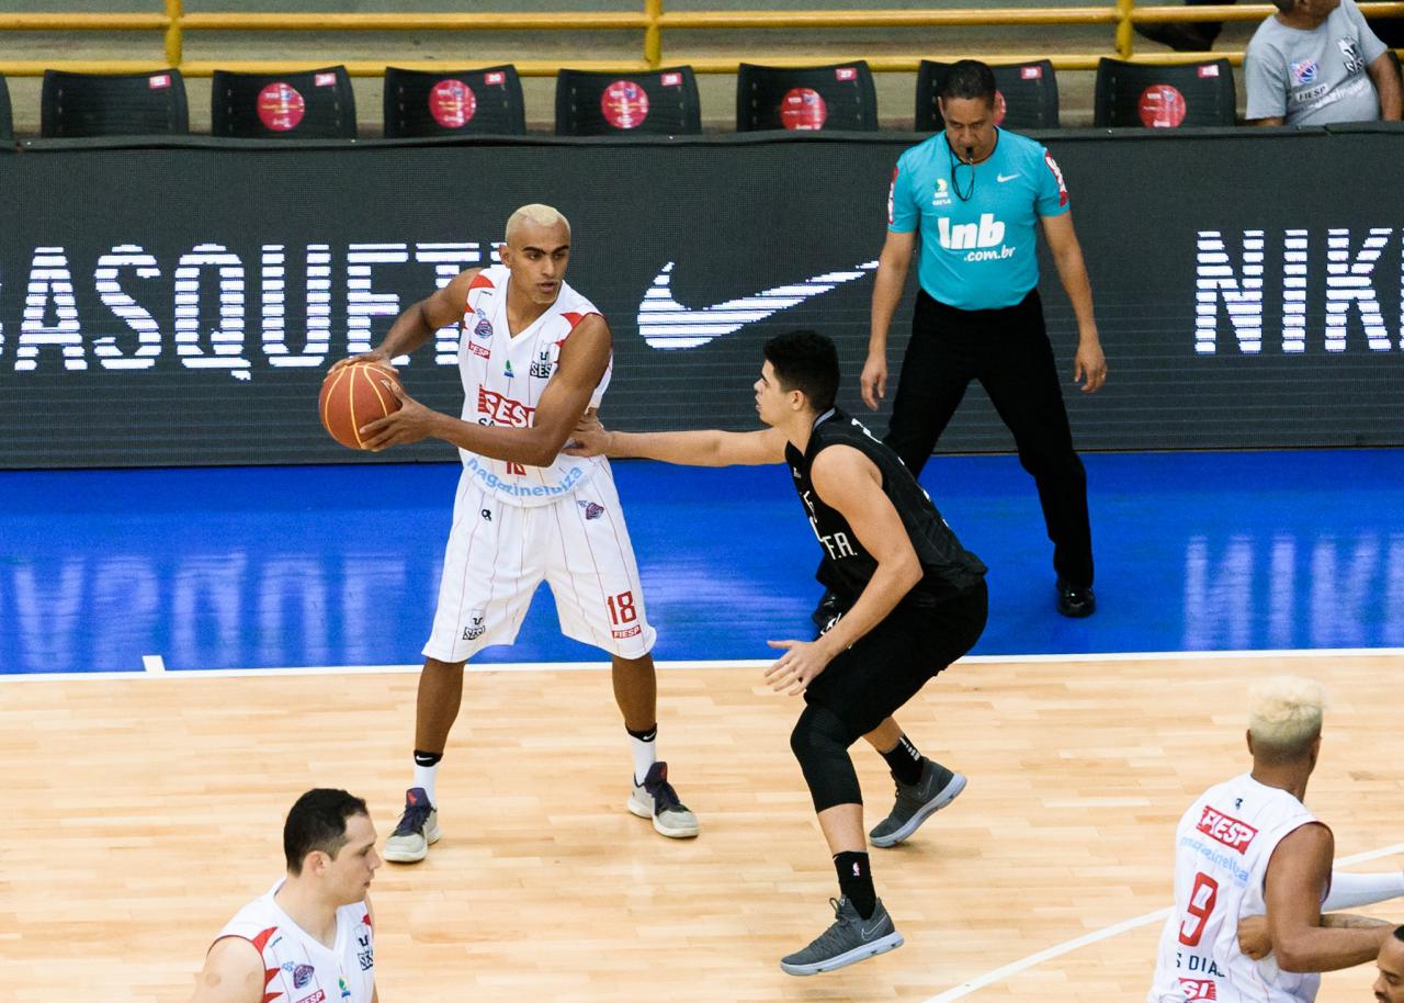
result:
<svg viewBox="0 0 1404 1003"><path fill-rule="evenodd" d="M878 91L868 63L755 66L736 74L736 129L878 128Z"/></svg>

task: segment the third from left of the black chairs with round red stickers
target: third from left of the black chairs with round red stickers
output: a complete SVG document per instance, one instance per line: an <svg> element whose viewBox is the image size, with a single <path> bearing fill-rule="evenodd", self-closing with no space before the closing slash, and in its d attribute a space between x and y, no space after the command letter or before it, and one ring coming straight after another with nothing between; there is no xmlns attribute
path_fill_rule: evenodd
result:
<svg viewBox="0 0 1404 1003"><path fill-rule="evenodd" d="M702 105L691 66L647 73L560 70L556 74L559 136L696 132L702 132Z"/></svg>

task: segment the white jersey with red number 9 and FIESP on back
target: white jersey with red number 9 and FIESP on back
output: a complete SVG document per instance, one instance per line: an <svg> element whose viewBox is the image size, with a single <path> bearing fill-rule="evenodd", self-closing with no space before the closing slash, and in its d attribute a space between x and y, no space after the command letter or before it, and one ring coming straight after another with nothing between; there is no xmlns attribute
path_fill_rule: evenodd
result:
<svg viewBox="0 0 1404 1003"><path fill-rule="evenodd" d="M1310 1003L1321 976L1283 972L1238 951L1238 920L1264 916L1268 861L1316 816L1251 774L1210 787L1175 830L1175 905L1160 934L1148 1003ZM1327 888L1321 889L1325 900Z"/></svg>

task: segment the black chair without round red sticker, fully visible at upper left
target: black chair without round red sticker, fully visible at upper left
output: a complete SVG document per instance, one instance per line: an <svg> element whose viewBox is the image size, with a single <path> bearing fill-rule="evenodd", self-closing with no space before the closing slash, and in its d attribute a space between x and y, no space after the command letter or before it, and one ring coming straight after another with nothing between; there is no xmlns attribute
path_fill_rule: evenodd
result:
<svg viewBox="0 0 1404 1003"><path fill-rule="evenodd" d="M178 70L154 73L44 72L39 135L184 136L190 132L185 81Z"/></svg>

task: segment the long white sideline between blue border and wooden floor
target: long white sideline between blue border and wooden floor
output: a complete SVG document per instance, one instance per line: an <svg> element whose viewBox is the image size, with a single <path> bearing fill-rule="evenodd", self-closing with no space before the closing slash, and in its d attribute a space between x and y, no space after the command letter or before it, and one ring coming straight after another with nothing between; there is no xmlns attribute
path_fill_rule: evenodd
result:
<svg viewBox="0 0 1404 1003"><path fill-rule="evenodd" d="M1092 655L967 655L956 664L1000 664L1000 663L1043 663L1043 662L1164 662L1184 659L1189 662L1209 659L1292 659L1292 657L1400 657L1404 648L1285 648L1275 650L1233 650L1233 652L1101 652ZM152 669L149 659L160 659L161 669ZM73 681L112 678L229 678L234 676L366 676L375 673L414 673L423 666L288 666L282 669L188 669L166 670L160 655L142 656L145 671L49 671L49 673L6 673L0 670L0 683L6 681ZM730 659L730 660L687 660L658 662L658 669L764 669L774 659ZM469 662L468 671L602 671L608 662Z"/></svg>

